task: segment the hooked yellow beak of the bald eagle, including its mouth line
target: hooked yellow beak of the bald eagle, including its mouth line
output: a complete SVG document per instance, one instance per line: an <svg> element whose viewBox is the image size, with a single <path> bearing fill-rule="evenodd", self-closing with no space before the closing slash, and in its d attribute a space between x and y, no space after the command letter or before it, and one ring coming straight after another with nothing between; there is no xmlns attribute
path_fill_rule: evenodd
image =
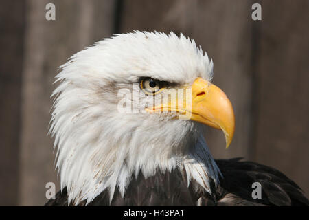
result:
<svg viewBox="0 0 309 220"><path fill-rule="evenodd" d="M176 111L181 115L190 115L188 117L190 120L221 129L225 133L225 142L228 148L235 130L235 117L231 102L221 89L203 78L196 78L191 88L191 99L184 98L180 101L180 96L177 94L176 101L168 100L168 103L151 109L147 108L146 111L149 113Z"/></svg>

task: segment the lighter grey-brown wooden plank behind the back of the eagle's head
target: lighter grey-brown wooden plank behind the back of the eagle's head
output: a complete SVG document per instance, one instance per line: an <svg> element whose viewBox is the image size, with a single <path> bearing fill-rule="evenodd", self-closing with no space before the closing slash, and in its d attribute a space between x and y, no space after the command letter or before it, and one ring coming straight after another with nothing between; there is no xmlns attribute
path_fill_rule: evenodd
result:
<svg viewBox="0 0 309 220"><path fill-rule="evenodd" d="M27 206L43 205L45 184L57 183L53 141L47 137L57 68L113 31L114 0L53 1L56 21L45 19L47 3L27 1L19 183L19 204Z"/></svg>

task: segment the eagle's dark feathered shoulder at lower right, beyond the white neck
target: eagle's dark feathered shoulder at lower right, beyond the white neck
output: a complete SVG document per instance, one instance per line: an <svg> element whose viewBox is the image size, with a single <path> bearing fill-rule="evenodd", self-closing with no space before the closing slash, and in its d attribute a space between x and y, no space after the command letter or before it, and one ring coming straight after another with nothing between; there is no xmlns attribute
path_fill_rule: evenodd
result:
<svg viewBox="0 0 309 220"><path fill-rule="evenodd" d="M269 166L236 159L216 160L222 178L218 206L308 206L301 188L283 173ZM253 199L252 184L261 184L261 199Z"/></svg>

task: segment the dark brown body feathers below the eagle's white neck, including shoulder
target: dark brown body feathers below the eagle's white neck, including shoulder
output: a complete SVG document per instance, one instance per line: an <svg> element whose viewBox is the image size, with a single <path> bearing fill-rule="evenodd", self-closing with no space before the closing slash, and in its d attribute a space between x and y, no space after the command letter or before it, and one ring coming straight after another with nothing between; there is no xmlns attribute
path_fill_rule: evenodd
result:
<svg viewBox="0 0 309 220"><path fill-rule="evenodd" d="M240 159L216 160L224 178L211 184L212 195L195 181L187 187L186 177L174 170L144 178L141 173L130 181L124 197L115 190L109 203L104 190L88 206L308 206L299 186L278 170ZM253 182L262 185L262 198L253 199ZM45 206L67 206L67 190L58 192ZM85 202L78 204L84 206Z"/></svg>

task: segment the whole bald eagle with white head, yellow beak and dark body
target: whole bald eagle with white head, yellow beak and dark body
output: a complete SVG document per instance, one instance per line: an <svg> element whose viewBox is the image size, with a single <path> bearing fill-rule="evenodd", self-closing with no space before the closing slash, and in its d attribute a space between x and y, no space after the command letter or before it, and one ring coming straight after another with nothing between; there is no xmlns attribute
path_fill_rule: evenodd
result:
<svg viewBox="0 0 309 220"><path fill-rule="evenodd" d="M308 206L279 171L211 156L205 126L229 146L234 113L194 40L117 34L60 69L49 133L61 190L46 206Z"/></svg>

